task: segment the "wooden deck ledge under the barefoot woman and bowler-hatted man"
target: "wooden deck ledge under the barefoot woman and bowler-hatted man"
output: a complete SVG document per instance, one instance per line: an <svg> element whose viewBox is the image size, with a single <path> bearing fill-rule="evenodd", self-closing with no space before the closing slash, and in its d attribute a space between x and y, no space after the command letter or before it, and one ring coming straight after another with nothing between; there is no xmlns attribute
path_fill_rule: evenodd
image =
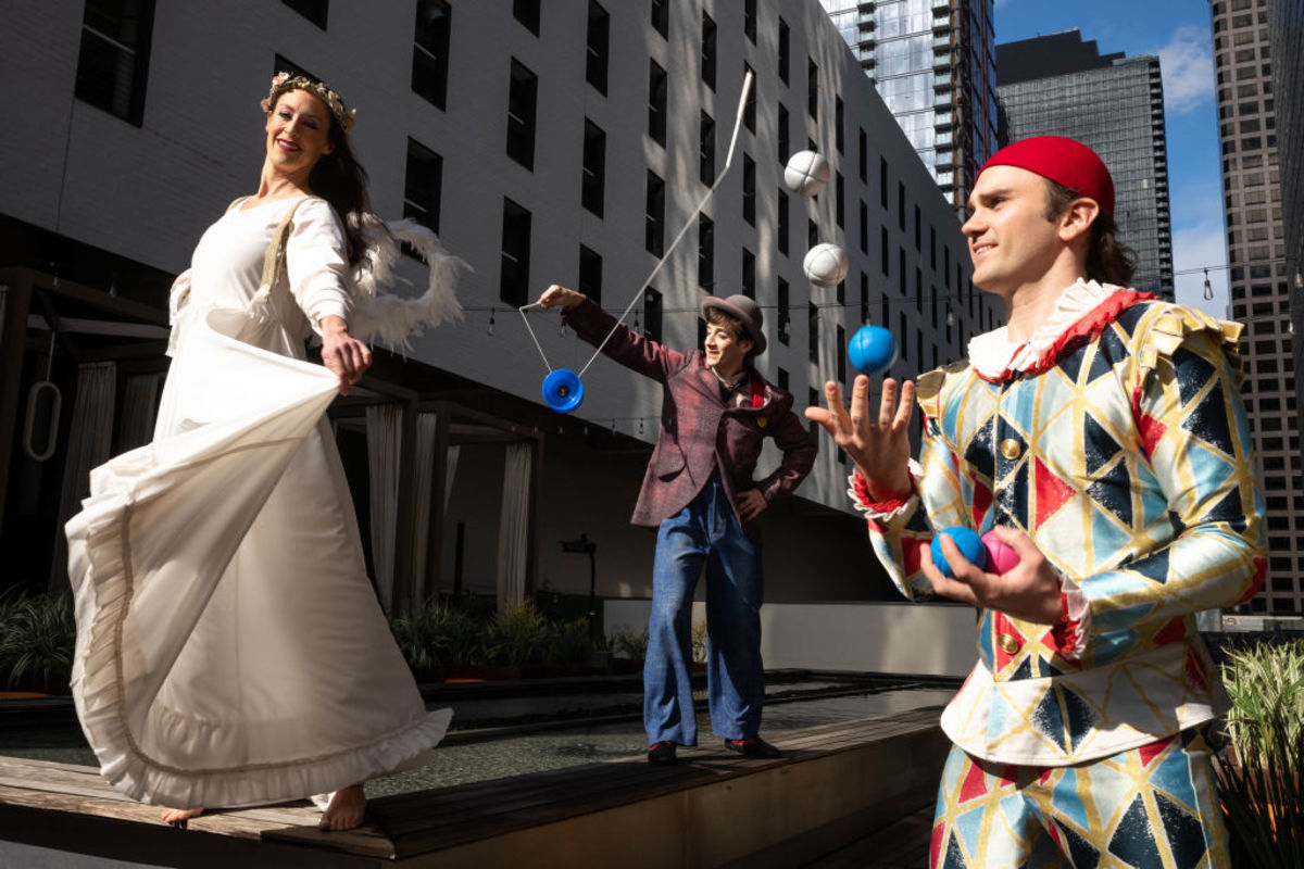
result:
<svg viewBox="0 0 1304 869"><path fill-rule="evenodd" d="M308 804L211 812L175 830L91 767L0 757L4 842L162 866L795 866L931 803L938 710L776 735L786 757L682 749L373 800L319 833ZM914 835L913 833L910 835ZM885 864L896 865L896 864Z"/></svg>

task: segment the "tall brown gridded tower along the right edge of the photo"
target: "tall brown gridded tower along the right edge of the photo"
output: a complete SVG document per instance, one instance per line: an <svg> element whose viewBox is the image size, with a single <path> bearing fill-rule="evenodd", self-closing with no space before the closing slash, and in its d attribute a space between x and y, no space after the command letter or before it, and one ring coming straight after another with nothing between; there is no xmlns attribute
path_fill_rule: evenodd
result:
<svg viewBox="0 0 1304 869"><path fill-rule="evenodd" d="M1297 165L1300 143L1295 139L1290 147L1278 147L1286 139L1279 139L1277 124L1274 65L1282 60L1271 39L1273 5L1266 0L1215 0L1210 13L1231 314L1245 323L1245 409L1267 502L1267 578L1245 608L1299 614L1304 602L1304 468L1295 383L1299 357L1292 347L1299 330L1291 334L1291 287L1297 266L1291 264L1287 249L1279 156L1288 152ZM1297 31L1295 39L1297 64ZM1299 73L1295 65L1281 76L1297 78Z"/></svg>

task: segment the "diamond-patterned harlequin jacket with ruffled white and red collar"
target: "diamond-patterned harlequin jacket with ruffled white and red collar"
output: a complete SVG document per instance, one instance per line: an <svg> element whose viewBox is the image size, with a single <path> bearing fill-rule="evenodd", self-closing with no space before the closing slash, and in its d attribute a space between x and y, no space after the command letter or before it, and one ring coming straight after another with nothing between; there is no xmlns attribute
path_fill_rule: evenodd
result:
<svg viewBox="0 0 1304 869"><path fill-rule="evenodd" d="M870 504L853 478L908 598L931 590L921 550L955 525L1026 532L1061 573L1058 625L979 614L978 663L941 718L970 754L1065 766L1223 709L1194 614L1248 599L1266 572L1239 332L1078 281L1026 344L996 330L919 378L908 500Z"/></svg>

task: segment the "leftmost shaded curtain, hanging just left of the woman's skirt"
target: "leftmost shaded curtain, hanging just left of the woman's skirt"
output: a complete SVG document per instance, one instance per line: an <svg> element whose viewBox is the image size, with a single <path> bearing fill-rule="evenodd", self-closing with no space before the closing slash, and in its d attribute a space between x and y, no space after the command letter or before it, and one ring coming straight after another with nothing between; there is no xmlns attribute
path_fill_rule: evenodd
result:
<svg viewBox="0 0 1304 869"><path fill-rule="evenodd" d="M90 469L108 461L113 442L113 396L117 366L113 362L86 362L77 366L77 399L68 427L68 457L59 494L59 521L55 525L55 552L50 564L50 591L68 590L68 538L64 522L81 509L90 494Z"/></svg>

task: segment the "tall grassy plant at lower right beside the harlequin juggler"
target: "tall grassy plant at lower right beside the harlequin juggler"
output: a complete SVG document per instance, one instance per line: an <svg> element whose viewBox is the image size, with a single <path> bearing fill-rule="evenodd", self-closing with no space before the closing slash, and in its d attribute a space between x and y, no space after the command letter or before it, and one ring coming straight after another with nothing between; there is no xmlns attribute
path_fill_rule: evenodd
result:
<svg viewBox="0 0 1304 869"><path fill-rule="evenodd" d="M1304 641L1228 650L1223 681L1234 752L1217 782L1232 864L1304 866Z"/></svg>

